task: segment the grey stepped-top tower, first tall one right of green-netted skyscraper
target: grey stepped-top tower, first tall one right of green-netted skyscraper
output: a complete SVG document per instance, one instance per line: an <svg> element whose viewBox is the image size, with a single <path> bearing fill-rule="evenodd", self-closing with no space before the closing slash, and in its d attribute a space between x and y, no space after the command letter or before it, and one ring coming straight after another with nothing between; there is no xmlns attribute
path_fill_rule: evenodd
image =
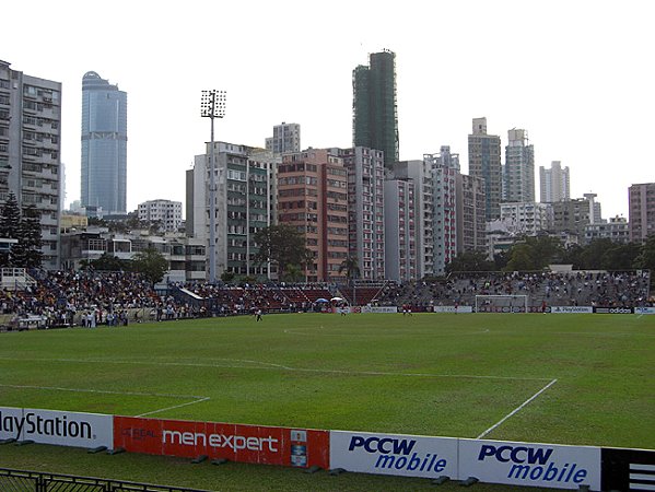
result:
<svg viewBox="0 0 655 492"><path fill-rule="evenodd" d="M484 180L484 215L491 221L501 216L501 138L487 134L487 118L473 118L472 130L468 136L468 169L472 177Z"/></svg>

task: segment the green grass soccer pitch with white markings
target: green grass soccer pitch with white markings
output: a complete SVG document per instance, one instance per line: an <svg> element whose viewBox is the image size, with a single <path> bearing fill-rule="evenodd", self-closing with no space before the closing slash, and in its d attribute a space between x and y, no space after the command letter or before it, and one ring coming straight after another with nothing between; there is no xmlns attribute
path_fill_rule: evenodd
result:
<svg viewBox="0 0 655 492"><path fill-rule="evenodd" d="M8 332L0 407L655 448L655 316L268 315Z"/></svg>

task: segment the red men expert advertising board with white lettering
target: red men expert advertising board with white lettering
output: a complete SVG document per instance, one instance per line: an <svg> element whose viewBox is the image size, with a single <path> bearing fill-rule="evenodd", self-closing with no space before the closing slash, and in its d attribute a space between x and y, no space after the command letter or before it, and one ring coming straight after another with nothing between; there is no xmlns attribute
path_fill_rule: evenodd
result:
<svg viewBox="0 0 655 492"><path fill-rule="evenodd" d="M114 417L114 448L149 455L329 468L329 432Z"/></svg>

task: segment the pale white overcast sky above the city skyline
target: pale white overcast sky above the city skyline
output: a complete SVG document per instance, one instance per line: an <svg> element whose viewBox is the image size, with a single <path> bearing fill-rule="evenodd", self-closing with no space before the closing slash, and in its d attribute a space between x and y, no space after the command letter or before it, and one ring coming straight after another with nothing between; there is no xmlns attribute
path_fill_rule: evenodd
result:
<svg viewBox="0 0 655 492"><path fill-rule="evenodd" d="M561 161L571 195L628 216L655 181L651 0L10 1L0 59L63 83L66 204L80 198L82 77L128 93L128 211L185 199L204 152L203 89L227 91L215 139L264 147L301 124L302 147L352 144L352 69L396 52L400 159L451 145L468 173L471 119L507 143L523 128L536 169ZM503 156L504 161L504 156ZM536 186L537 199L538 183Z"/></svg>

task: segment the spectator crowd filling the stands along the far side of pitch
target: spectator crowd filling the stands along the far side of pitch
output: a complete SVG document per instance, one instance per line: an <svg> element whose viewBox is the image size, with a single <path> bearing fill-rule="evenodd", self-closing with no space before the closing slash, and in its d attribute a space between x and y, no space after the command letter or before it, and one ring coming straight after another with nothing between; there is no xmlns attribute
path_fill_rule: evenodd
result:
<svg viewBox="0 0 655 492"><path fill-rule="evenodd" d="M37 317L44 326L125 326L142 320L253 314L257 311L320 311L331 300L351 305L475 306L476 296L522 296L530 307L652 305L650 273L632 272L513 272L453 274L434 282L382 282L353 288L336 284L173 283L155 290L130 272L38 271L35 284L0 291L0 308L16 321Z"/></svg>

